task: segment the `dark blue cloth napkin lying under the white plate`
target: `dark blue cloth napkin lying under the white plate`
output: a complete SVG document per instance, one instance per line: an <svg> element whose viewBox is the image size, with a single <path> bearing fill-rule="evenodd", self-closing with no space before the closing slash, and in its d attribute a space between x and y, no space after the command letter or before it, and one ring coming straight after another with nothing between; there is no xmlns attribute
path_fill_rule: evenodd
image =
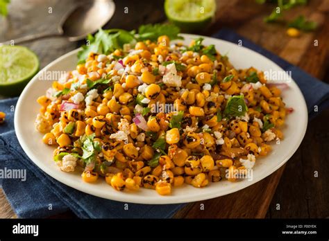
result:
<svg viewBox="0 0 329 241"><path fill-rule="evenodd" d="M247 48L267 56L282 69L292 71L292 78L301 88L307 102L310 118L329 106L328 84L320 82L298 67L249 42L231 30L223 29L214 37L234 43L243 39L244 46ZM20 147L13 127L14 112L12 110L15 109L16 102L17 98L0 100L0 111L5 111L7 114L6 123L0 125L0 170L5 170L5 168L26 170L26 181L0 178L0 185L19 217L48 217L70 209L81 218L168 218L184 206L184 204L128 204L128 211L126 211L124 203L87 195L60 184L37 168ZM319 112L313 111L314 105L318 105Z"/></svg>

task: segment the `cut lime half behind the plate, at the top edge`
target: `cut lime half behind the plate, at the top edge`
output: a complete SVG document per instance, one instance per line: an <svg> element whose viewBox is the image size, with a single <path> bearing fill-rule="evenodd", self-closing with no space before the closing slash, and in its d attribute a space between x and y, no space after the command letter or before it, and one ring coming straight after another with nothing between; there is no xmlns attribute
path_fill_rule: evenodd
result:
<svg viewBox="0 0 329 241"><path fill-rule="evenodd" d="M166 0L168 19L183 32L203 30L212 21L216 12L214 0Z"/></svg>

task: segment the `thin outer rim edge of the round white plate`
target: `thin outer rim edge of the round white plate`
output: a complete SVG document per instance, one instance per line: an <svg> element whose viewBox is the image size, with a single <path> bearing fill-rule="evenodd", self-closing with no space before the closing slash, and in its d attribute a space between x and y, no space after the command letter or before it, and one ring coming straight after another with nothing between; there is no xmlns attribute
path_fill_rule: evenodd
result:
<svg viewBox="0 0 329 241"><path fill-rule="evenodd" d="M226 44L232 44L235 46L235 48L238 46L239 48L245 48L246 51L251 51L254 55L258 55L258 57L264 57L266 58L269 62L271 62L271 64L273 64L273 66L276 66L276 68L281 69L282 71L284 71L280 66L278 66L278 64L276 64L276 62L273 62L272 60L270 60L268 57L253 51L250 48L246 48L244 46L239 46L233 42L228 42L226 40L223 39L217 39L214 37L207 37L207 36L202 36L202 35L191 35L191 34L181 34L183 37L189 37L189 38L193 38L193 37L203 37L206 41L219 41L219 42L226 42ZM109 199L109 200L114 200L114 201L119 201L119 202L129 202L129 203L135 203L135 204L181 204L181 203L189 203L189 202L197 202L197 201L202 201L205 199L211 199L211 198L215 198L215 197L221 197L224 195L228 195L230 193L235 193L239 190L242 190L248 186L251 186L255 183L257 183L258 181L269 177L269 175L271 175L273 172L275 172L276 170L278 170L281 166L283 166L291 157L292 155L296 152L296 150L298 149L298 147L301 145L301 142L304 139L305 136L305 132L307 130L307 123L308 123L308 112L307 112L307 107L306 107L306 102L305 102L305 98L303 96L303 93L301 92L301 89L299 89L298 84L296 84L296 82L294 81L293 78L291 78L292 82L290 84L294 84L296 85L296 91L298 91L298 94L301 96L303 103L300 103L301 105L301 109L302 109L302 113L303 116L302 119L304 121L304 125L303 125L303 130L300 132L298 141L296 141L294 148L292 148L292 151L289 152L289 154L287 154L287 156L282 159L282 161L280 161L280 163L278 163L278 165L267 171L266 175L264 177L258 177L258 178L254 178L253 181L244 181L243 183L240 183L239 186L232 188L230 190L227 190L226 192L221 193L220 195L218 195L217 193L213 192L213 193L207 193L207 194L203 194L203 195L198 195L198 192L192 194L192 195L188 195L187 198L184 198L184 201L182 202L181 199L179 198L174 198L174 199L167 199L163 196L160 196L160 198L154 199L154 197L144 197L144 199L142 198L141 200L135 200L135 196L134 195L129 195L129 193L127 193L127 195L124 196L124 198L122 198L121 196L115 196L112 195L111 197L108 197L108 195L105 195L106 192L103 193L97 193L94 190L86 190L86 188L81 187L80 185L76 186L75 185L75 181L73 179L66 179L65 175L62 175L60 177L60 175L55 175L56 177L54 177L53 175L53 170L50 168L50 166L47 166L46 164L42 164L39 161L35 161L37 160L37 157L35 157L35 155L33 154L33 152L31 150L29 150L28 145L26 145L26 143L23 142L23 137L22 137L22 133L20 132L20 127L19 127L19 113L20 113L20 108L22 107L22 100L24 99L24 96L26 95L26 93L28 93L28 90L32 87L33 83L37 80L37 78L39 77L40 73L44 70L49 69L49 67L53 66L53 64L57 64L58 62L62 61L63 59L65 59L66 57L68 57L69 55L73 55L76 54L76 52L78 52L81 48L76 48L73 51L69 51L68 53L65 53L64 55L58 57L56 60L53 60L52 62L50 62L49 64L47 64L47 66L44 66L43 69L41 69L33 78L30 82L28 82L28 84L26 85L26 87L24 88L24 90L22 91L21 95L19 96L19 99L17 100L17 105L15 107L15 116L14 116L14 126L15 126L15 134L17 136L17 139L19 141L19 144L22 146L22 149L24 150L24 152L26 153L26 155L28 156L29 159L31 159L31 161L38 167L40 168L42 171L46 172L47 175L49 175L50 177L52 177L53 179L56 179L56 181L59 181L62 184L65 184L66 186L69 186L71 188L74 188L76 190L80 190L83 193L89 194L89 195L94 195L96 197L102 197L104 199ZM60 173L60 172L58 172ZM95 188L96 189L96 188Z"/></svg>

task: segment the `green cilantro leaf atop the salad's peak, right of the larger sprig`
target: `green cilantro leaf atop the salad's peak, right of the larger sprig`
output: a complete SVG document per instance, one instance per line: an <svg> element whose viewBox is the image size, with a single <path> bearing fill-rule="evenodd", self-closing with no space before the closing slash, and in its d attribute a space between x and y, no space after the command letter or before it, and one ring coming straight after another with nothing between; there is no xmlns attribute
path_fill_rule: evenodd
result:
<svg viewBox="0 0 329 241"><path fill-rule="evenodd" d="M161 35L167 35L170 40L173 39L183 39L179 36L180 29L173 24L146 24L138 28L138 41L151 39L151 41L156 41Z"/></svg>

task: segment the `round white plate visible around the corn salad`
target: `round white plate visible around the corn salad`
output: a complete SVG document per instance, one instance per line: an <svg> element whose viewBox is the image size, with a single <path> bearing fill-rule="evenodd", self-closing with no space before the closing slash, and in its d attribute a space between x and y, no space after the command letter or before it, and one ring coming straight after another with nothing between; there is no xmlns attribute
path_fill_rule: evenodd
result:
<svg viewBox="0 0 329 241"><path fill-rule="evenodd" d="M196 35L184 36L185 44L188 44L192 37L199 37ZM210 37L204 37L204 39L205 45L214 44L220 53L228 53L230 61L237 69L254 66L256 69L262 71L282 71L277 64L248 48L237 46L236 44L220 39ZM59 57L46 66L44 70L70 71L75 69L77 62L76 53L78 53L78 49ZM291 80L288 75L286 77ZM173 193L169 196L160 196L155 190L148 190L146 188L140 188L140 191L135 193L118 192L108 186L103 179L99 179L96 184L87 184L82 181L81 175L78 172L62 172L56 166L56 163L53 161L53 148L42 143L42 134L35 131L34 127L35 116L37 116L40 109L40 106L36 102L37 97L44 95L45 91L51 87L51 83L52 81L49 80L40 80L40 73L38 73L28 83L19 97L15 111L15 130L23 150L39 168L63 184L81 190L84 193L121 202L176 204L195 202L234 193L271 175L272 172L288 161L301 144L307 127L305 100L296 83L291 80L289 82L289 89L282 93L287 107L294 108L294 112L286 118L286 127L283 130L285 139L279 145L273 143L272 152L267 157L256 161L256 165L253 168L253 179L251 181L247 179L235 183L219 181L218 183L211 183L205 188L194 188L185 185L180 188L173 188Z"/></svg>

